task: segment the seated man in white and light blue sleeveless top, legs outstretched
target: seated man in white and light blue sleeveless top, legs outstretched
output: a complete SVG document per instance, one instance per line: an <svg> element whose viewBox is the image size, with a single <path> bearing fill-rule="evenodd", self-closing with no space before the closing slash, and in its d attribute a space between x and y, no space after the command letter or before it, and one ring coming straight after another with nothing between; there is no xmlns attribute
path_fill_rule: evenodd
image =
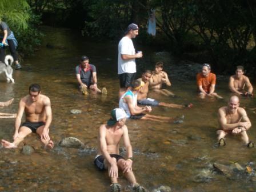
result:
<svg viewBox="0 0 256 192"><path fill-rule="evenodd" d="M126 117L131 119L142 119L157 122L173 122L182 123L183 115L179 118L162 117L159 115L150 115L152 111L150 106L139 107L137 105L137 93L144 86L144 82L141 80L135 80L131 82L131 87L119 100L119 107L124 109Z"/></svg>

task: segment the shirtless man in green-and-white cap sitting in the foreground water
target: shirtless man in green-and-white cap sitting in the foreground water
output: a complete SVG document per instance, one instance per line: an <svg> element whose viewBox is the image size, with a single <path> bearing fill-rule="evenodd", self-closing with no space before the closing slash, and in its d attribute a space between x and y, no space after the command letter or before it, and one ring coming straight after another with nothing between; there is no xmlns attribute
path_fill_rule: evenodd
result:
<svg viewBox="0 0 256 192"><path fill-rule="evenodd" d="M128 129L125 125L126 113L123 109L116 108L111 111L111 119L107 125L99 127L98 135L98 154L95 157L94 164L99 170L107 169L111 180L110 191L121 191L121 185L118 183L118 170L121 170L127 180L131 183L133 191L146 191L139 186L133 170L133 149L130 144ZM123 137L123 145L126 148L126 160L119 155L119 141Z"/></svg>

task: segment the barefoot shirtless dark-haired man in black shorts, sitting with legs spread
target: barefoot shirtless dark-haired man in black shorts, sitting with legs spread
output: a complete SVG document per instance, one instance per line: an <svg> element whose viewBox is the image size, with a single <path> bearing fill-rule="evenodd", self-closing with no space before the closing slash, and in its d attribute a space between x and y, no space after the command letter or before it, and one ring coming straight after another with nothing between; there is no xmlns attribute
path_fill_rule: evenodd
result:
<svg viewBox="0 0 256 192"><path fill-rule="evenodd" d="M26 114L26 122L22 123L23 112ZM49 97L41 94L41 87L38 84L32 84L29 87L29 95L26 95L19 101L17 118L15 119L15 132L13 142L2 139L2 145L5 148L16 148L23 139L30 133L37 133L41 142L50 149L54 143L49 136L49 126L51 123L51 102Z"/></svg>

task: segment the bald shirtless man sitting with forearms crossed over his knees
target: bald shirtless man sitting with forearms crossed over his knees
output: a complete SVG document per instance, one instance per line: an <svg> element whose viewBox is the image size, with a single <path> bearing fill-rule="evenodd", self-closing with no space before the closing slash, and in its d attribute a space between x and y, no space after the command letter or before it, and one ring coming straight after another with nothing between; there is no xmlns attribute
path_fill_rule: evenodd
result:
<svg viewBox="0 0 256 192"><path fill-rule="evenodd" d="M227 106L219 108L218 120L221 126L221 129L217 131L219 146L226 145L224 138L227 134L241 135L242 141L248 147L254 146L246 133L251 127L250 119L247 117L245 109L239 107L237 96L230 97Z"/></svg>

